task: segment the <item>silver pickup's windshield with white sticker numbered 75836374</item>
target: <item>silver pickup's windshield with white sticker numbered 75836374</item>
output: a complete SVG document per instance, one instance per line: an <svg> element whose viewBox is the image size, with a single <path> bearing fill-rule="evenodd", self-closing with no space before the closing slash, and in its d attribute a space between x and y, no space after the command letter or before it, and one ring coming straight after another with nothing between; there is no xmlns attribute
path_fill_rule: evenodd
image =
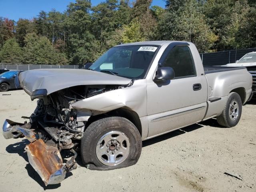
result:
<svg viewBox="0 0 256 192"><path fill-rule="evenodd" d="M89 69L131 79L146 75L158 46L120 46L110 48Z"/></svg>

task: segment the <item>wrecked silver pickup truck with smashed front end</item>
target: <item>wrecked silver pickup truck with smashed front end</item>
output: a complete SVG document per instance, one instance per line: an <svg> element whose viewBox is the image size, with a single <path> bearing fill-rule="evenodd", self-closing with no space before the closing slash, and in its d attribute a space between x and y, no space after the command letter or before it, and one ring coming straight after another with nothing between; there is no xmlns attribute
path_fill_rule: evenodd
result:
<svg viewBox="0 0 256 192"><path fill-rule="evenodd" d="M86 68L18 76L38 104L30 122L6 120L3 135L30 141L28 160L46 185L76 168L78 151L87 168L111 170L135 164L142 140L213 117L236 126L252 91L246 68L204 68L190 42L122 44ZM61 150L74 156L63 163Z"/></svg>

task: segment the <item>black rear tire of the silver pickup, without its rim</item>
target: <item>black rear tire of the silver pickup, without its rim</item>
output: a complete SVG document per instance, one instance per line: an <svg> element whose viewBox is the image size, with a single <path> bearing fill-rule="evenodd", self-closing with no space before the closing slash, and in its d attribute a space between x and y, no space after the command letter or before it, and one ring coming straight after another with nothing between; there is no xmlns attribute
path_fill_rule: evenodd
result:
<svg viewBox="0 0 256 192"><path fill-rule="evenodd" d="M233 101L235 101L238 104L238 115L237 115L236 119L234 119L234 120L232 120L232 118L230 117L230 104ZM218 122L218 124L220 124L221 126L224 126L224 127L234 127L238 124L238 122L241 118L241 114L242 114L241 98L237 93L231 92L228 95L228 99L226 101L224 110L222 111L220 116L217 117L217 122Z"/></svg>

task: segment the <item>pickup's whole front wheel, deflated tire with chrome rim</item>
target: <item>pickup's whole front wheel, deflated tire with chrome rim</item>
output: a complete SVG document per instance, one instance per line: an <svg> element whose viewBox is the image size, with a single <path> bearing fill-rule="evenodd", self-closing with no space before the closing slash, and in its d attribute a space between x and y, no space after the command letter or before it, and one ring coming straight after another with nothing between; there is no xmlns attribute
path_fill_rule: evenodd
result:
<svg viewBox="0 0 256 192"><path fill-rule="evenodd" d="M112 170L136 164L142 150L140 132L126 118L107 117L90 124L81 142L85 165Z"/></svg>

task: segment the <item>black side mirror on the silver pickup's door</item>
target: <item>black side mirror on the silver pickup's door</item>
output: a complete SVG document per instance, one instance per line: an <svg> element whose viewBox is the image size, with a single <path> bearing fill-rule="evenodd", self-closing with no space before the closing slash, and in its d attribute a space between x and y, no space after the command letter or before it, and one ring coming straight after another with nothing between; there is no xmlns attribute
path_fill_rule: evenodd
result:
<svg viewBox="0 0 256 192"><path fill-rule="evenodd" d="M154 82L164 82L166 80L172 80L175 77L173 68L171 67L160 67L156 71Z"/></svg>

